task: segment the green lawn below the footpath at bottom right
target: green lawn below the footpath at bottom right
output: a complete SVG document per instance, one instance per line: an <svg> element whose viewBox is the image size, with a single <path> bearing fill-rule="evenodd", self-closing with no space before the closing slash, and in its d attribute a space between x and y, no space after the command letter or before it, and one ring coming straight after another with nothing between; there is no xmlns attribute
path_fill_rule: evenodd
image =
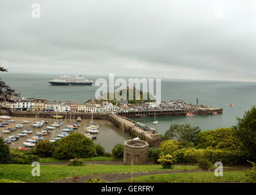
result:
<svg viewBox="0 0 256 195"><path fill-rule="evenodd" d="M241 181L244 176L245 171L224 171L223 177L216 177L214 172L190 172L133 177L133 182L224 182ZM119 182L130 182L130 179Z"/></svg>

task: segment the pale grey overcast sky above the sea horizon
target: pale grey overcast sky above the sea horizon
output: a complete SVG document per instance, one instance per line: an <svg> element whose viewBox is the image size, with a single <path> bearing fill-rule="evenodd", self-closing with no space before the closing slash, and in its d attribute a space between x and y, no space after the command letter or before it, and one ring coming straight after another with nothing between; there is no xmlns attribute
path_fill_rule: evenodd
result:
<svg viewBox="0 0 256 195"><path fill-rule="evenodd" d="M1 0L0 24L10 73L256 81L254 0Z"/></svg>

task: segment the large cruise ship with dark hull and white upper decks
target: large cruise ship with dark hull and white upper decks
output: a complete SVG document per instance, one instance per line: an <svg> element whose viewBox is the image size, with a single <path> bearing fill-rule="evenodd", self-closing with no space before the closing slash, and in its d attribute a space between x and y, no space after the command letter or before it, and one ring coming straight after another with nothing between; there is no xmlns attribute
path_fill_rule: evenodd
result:
<svg viewBox="0 0 256 195"><path fill-rule="evenodd" d="M60 76L48 81L52 85L92 85L93 81L85 79L82 75L72 78L70 76Z"/></svg>

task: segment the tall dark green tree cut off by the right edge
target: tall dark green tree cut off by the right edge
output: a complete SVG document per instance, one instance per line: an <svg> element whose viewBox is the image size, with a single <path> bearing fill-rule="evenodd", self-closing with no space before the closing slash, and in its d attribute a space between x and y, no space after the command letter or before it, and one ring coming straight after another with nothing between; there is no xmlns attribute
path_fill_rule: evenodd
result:
<svg viewBox="0 0 256 195"><path fill-rule="evenodd" d="M255 105L245 112L243 118L236 118L235 136L243 143L249 158L256 160L256 108Z"/></svg>

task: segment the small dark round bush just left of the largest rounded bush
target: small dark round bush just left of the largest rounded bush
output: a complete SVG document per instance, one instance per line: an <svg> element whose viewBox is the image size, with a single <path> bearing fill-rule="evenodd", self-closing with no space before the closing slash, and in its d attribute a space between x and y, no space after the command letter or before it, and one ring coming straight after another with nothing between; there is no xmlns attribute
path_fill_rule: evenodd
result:
<svg viewBox="0 0 256 195"><path fill-rule="evenodd" d="M34 149L34 154L43 158L51 157L52 152L54 152L54 144L49 140L39 141Z"/></svg>

